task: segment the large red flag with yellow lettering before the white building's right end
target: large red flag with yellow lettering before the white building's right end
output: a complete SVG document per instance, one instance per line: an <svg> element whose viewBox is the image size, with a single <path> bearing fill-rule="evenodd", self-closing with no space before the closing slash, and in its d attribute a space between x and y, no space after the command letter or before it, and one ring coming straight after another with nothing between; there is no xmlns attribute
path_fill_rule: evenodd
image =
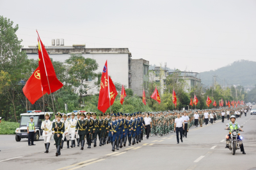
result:
<svg viewBox="0 0 256 170"><path fill-rule="evenodd" d="M100 79L98 109L102 112L106 112L108 107L110 107L109 100L111 105L113 105L116 95L117 91L115 85L113 84L111 78L108 76L108 62L106 61Z"/></svg>

